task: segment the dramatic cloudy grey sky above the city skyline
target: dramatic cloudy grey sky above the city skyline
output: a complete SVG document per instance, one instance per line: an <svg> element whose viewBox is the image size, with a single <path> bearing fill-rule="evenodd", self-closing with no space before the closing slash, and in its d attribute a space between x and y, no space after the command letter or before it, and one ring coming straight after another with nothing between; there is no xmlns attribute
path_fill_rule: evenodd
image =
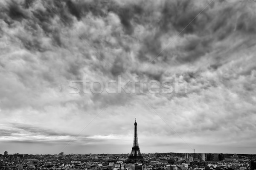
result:
<svg viewBox="0 0 256 170"><path fill-rule="evenodd" d="M0 153L256 153L255 8L0 0Z"/></svg>

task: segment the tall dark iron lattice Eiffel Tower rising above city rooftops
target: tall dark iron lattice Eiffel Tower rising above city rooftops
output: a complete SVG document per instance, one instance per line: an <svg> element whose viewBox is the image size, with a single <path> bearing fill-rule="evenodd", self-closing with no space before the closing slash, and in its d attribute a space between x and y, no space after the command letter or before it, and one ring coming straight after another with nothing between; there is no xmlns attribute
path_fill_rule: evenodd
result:
<svg viewBox="0 0 256 170"><path fill-rule="evenodd" d="M139 142L138 142L138 134L137 134L137 122L135 118L135 123L134 123L134 143L131 148L131 154L128 157L127 163L135 163L135 162L144 162L143 157L141 156L140 153L140 147L139 147Z"/></svg>

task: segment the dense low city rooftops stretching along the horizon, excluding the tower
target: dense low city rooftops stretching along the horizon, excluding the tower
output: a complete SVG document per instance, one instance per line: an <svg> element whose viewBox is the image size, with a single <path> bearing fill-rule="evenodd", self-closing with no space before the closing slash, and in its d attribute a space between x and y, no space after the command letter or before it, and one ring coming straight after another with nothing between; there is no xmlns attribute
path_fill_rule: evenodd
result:
<svg viewBox="0 0 256 170"><path fill-rule="evenodd" d="M1 170L254 170L256 155L145 153L145 162L125 163L129 154L0 155Z"/></svg>

